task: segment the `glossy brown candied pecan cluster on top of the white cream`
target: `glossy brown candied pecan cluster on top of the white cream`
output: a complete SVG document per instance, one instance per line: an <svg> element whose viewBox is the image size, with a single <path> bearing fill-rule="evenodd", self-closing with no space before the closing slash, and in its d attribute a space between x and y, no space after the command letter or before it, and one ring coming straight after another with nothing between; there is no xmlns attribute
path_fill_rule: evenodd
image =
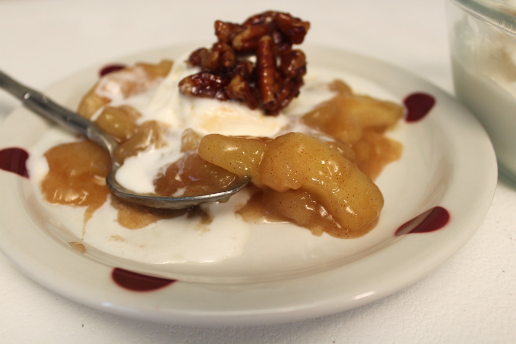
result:
<svg viewBox="0 0 516 344"><path fill-rule="evenodd" d="M309 22L275 11L253 15L241 25L216 21L218 41L191 53L188 62L201 71L182 79L180 92L278 114L303 85L307 62L292 45L302 43L309 28Z"/></svg>

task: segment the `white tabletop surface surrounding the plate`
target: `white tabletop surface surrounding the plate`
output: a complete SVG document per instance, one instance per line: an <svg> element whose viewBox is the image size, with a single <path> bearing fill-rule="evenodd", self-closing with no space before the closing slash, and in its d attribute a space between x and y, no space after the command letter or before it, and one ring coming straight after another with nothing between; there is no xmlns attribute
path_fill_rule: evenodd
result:
<svg viewBox="0 0 516 344"><path fill-rule="evenodd" d="M211 40L216 19L241 22L267 9L309 20L307 42L381 58L453 93L443 0L0 0L0 68L44 89L95 63ZM0 121L17 106L0 91ZM478 232L437 271L382 300L296 323L189 327L125 319L41 287L0 253L3 343L511 343L514 324L516 187L503 178Z"/></svg>

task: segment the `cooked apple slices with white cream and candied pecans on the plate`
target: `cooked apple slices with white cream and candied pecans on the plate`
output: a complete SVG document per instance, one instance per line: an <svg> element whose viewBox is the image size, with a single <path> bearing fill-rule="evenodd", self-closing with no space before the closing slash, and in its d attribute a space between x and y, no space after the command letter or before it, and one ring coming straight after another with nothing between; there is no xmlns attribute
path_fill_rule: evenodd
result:
<svg viewBox="0 0 516 344"><path fill-rule="evenodd" d="M275 11L242 24L216 21L212 46L110 68L78 112L120 143L116 177L128 189L198 195L250 176L235 216L294 223L318 236L362 236L383 206L374 179L401 154L385 133L404 110L310 72L310 56L297 47L309 29ZM103 183L109 157L89 141L56 145L45 158L44 198L84 206L85 223L106 202L133 229L174 217L209 224L216 216L219 204L159 211L117 200Z"/></svg>

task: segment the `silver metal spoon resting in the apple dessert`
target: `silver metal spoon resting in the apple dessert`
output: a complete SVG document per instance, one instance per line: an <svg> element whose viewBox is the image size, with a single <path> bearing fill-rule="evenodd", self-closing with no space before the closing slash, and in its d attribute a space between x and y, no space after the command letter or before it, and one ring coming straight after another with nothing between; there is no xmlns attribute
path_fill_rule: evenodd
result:
<svg viewBox="0 0 516 344"><path fill-rule="evenodd" d="M15 81L2 71L0 71L0 88L17 97L28 109L100 144L111 157L111 169L106 177L106 185L115 196L128 203L160 209L184 209L202 203L227 200L249 183L249 177L246 177L237 180L233 185L220 192L198 196L162 197L135 193L117 182L115 174L121 164L115 161L114 154L118 143L99 126L79 114L60 106L44 94L18 83L18 81Z"/></svg>

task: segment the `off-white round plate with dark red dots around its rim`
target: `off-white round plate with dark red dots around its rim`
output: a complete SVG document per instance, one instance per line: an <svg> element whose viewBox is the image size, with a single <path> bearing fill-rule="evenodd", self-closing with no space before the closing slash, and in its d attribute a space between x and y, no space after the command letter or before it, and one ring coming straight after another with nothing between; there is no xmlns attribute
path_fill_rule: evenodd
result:
<svg viewBox="0 0 516 344"><path fill-rule="evenodd" d="M176 58L192 47L196 46L175 46L113 62ZM63 296L105 312L165 323L294 321L357 307L421 279L462 247L491 204L497 169L487 135L453 97L418 77L353 53L304 49L309 67L324 66L347 75L346 81L355 89L358 85L358 91L398 102L423 92L436 100L428 116L404 122L393 133L404 144L404 154L377 180L385 206L370 234L344 240L315 237L306 230L262 231L252 233L250 240L258 239L246 246L243 258L232 258L236 270L224 264L176 264L179 270L169 271L168 266L160 269L159 264L117 259L94 248L87 254L72 250L68 242L74 238L62 234L62 224L41 210L33 183L0 171L0 249L35 281ZM46 93L75 108L101 67L63 80ZM50 129L49 123L19 108L0 128L0 149L29 150ZM449 213L444 227L394 235L399 226L437 206ZM268 247L267 238L275 244ZM289 259L291 253L304 256ZM250 272L244 276L246 266ZM116 268L179 281L135 291L115 283L121 271ZM125 282L137 284L133 277Z"/></svg>

